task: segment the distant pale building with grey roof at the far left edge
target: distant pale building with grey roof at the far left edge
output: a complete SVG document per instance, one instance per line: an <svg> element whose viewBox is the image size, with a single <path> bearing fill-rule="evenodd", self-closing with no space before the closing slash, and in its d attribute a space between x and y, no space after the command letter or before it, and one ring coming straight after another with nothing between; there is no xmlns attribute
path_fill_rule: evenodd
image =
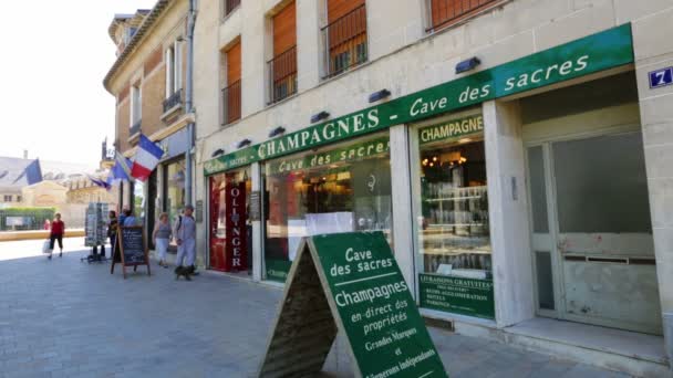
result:
<svg viewBox="0 0 673 378"><path fill-rule="evenodd" d="M0 157L0 208L21 206L21 189L40 181L39 159Z"/></svg>

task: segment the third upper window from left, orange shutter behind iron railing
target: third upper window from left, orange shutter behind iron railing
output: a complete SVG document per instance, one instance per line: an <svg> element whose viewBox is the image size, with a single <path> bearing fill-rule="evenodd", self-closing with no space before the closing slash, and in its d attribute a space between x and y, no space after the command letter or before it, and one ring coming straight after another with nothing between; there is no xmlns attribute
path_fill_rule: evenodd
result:
<svg viewBox="0 0 673 378"><path fill-rule="evenodd" d="M322 28L325 77L366 62L366 6L364 0L328 0L328 25Z"/></svg>

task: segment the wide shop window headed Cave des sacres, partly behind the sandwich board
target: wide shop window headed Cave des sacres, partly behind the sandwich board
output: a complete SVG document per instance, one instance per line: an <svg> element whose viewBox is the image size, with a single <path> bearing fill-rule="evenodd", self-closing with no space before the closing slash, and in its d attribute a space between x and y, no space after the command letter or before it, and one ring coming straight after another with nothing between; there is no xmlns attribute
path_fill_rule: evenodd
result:
<svg viewBox="0 0 673 378"><path fill-rule="evenodd" d="M383 231L392 243L387 134L266 164L265 264L284 282L302 237Z"/></svg>

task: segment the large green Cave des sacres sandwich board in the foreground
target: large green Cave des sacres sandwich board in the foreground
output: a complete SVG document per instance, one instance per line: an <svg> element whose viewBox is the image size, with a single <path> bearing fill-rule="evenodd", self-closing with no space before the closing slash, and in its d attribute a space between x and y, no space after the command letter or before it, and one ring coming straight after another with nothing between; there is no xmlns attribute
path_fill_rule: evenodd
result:
<svg viewBox="0 0 673 378"><path fill-rule="evenodd" d="M338 330L354 377L448 377L380 231L302 239L259 377L315 375Z"/></svg>

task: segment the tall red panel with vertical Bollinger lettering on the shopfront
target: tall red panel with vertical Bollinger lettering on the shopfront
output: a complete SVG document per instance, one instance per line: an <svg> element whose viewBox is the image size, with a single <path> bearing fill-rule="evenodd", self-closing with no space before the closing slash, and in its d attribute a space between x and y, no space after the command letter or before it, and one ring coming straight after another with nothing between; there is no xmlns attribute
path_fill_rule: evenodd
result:
<svg viewBox="0 0 673 378"><path fill-rule="evenodd" d="M210 185L210 269L252 272L252 223L248 219L250 169L219 174Z"/></svg>

